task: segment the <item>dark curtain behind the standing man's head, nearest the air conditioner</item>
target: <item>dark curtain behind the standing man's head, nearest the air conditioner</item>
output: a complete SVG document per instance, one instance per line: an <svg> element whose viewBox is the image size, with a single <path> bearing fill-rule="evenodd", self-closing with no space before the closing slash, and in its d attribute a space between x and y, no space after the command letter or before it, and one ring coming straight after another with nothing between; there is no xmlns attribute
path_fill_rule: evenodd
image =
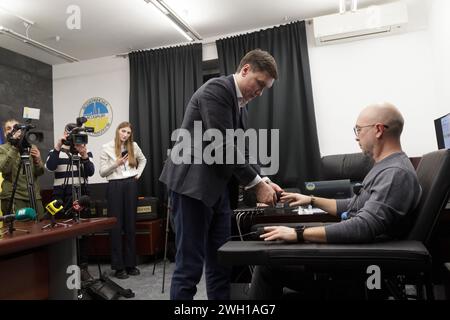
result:
<svg viewBox="0 0 450 320"><path fill-rule="evenodd" d="M234 73L252 49L266 50L275 58L279 79L248 104L248 123L250 128L280 130L280 166L271 179L284 187L303 188L303 182L318 177L320 170L305 22L220 39L216 44L223 75Z"/></svg>

